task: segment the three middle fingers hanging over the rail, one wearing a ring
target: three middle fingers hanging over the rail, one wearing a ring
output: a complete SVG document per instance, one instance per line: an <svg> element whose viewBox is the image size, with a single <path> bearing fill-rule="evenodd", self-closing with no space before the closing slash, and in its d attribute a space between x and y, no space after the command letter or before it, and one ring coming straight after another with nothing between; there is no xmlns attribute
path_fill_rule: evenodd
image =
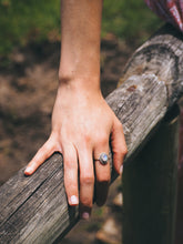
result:
<svg viewBox="0 0 183 244"><path fill-rule="evenodd" d="M103 146L104 144L104 146ZM109 140L98 144L94 150L94 159L99 159L100 154L105 152L109 154ZM79 159L78 159L79 157ZM110 164L102 165L99 161L94 162L92 149L77 151L72 146L63 146L64 159L64 185L70 205L77 205L80 202L80 216L88 220L91 215L94 192L94 167L95 167L95 196L96 204L103 205L106 201L109 184L111 180ZM80 185L78 186L78 161L80 170ZM80 196L78 187L80 187ZM80 199L80 200L79 200Z"/></svg>

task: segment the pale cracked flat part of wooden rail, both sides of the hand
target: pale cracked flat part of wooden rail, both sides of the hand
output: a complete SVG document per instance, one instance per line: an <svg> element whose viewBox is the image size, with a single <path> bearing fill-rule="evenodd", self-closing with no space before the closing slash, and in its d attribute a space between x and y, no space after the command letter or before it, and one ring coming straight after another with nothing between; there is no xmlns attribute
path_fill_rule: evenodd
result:
<svg viewBox="0 0 183 244"><path fill-rule="evenodd" d="M128 91L134 84L139 88ZM154 75L133 77L108 101L118 116L123 119L130 156L163 118L166 90ZM139 141L142 125L143 136ZM78 220L78 210L67 203L62 157L59 154L47 161L31 177L23 176L21 170L1 187L0 199L1 243L52 243Z"/></svg>

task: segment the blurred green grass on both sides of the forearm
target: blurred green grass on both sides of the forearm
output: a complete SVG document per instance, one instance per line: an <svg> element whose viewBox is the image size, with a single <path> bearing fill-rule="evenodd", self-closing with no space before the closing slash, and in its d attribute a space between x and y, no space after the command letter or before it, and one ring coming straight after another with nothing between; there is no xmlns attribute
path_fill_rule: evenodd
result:
<svg viewBox="0 0 183 244"><path fill-rule="evenodd" d="M104 0L102 37L143 40L160 24L143 0ZM0 0L0 55L14 47L60 37L60 0Z"/></svg>

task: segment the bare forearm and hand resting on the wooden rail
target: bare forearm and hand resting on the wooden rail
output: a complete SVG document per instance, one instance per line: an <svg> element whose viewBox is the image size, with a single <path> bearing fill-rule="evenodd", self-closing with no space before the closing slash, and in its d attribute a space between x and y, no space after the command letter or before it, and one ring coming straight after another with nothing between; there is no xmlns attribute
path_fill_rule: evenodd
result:
<svg viewBox="0 0 183 244"><path fill-rule="evenodd" d="M111 141L120 174L126 154L122 124L100 90L101 17L102 0L61 0L60 81L52 131L24 171L31 175L55 151L62 153L68 202L80 204L82 218L91 214L94 184L98 205L104 204L109 190L110 165L93 159L109 153Z"/></svg>

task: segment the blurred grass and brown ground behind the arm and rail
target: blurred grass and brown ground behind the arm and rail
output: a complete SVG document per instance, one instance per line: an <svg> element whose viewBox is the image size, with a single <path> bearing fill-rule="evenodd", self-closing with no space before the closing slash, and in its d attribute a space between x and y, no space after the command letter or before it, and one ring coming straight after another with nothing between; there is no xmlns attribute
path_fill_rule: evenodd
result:
<svg viewBox="0 0 183 244"><path fill-rule="evenodd" d="M133 51L161 24L143 0L103 1L104 96L115 89ZM0 0L0 184L24 166L49 136L60 38L60 0ZM81 222L60 243L120 243L120 182L112 186L106 205L94 207L92 220Z"/></svg>

